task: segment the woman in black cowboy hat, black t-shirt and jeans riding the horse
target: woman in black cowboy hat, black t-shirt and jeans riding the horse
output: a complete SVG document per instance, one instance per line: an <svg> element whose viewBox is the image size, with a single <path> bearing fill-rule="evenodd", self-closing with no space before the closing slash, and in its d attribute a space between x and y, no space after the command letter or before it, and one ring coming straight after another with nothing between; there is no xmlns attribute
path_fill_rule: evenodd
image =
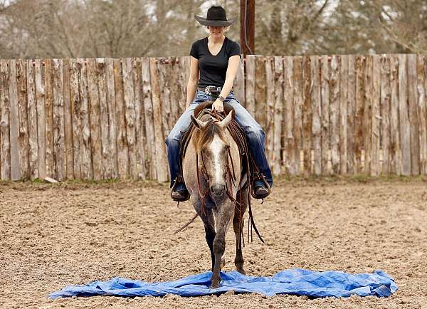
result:
<svg viewBox="0 0 427 309"><path fill-rule="evenodd" d="M223 112L223 103L226 102L235 110L236 122L246 133L248 147L251 150L253 161L266 182L273 186L270 167L268 166L264 150L265 133L258 122L234 97L233 80L241 58L239 44L227 38L224 33L235 19L227 19L226 11L222 6L211 6L206 19L195 16L196 20L209 30L209 36L193 43L190 51L190 78L187 85L186 110L179 117L174 128L166 139L169 169L171 174L172 199L185 201L189 199L180 171L179 142L183 132L191 123L191 115L199 103L214 100L212 108ZM176 182L176 183L175 183ZM255 198L267 197L270 190L262 180L253 184Z"/></svg>

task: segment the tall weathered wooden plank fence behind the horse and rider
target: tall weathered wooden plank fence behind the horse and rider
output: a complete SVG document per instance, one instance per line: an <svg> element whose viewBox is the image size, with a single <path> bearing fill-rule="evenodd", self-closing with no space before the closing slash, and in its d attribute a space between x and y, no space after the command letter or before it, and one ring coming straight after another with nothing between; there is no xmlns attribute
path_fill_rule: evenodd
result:
<svg viewBox="0 0 427 309"><path fill-rule="evenodd" d="M427 56L248 56L273 174L426 174ZM0 178L167 181L189 58L0 61Z"/></svg>

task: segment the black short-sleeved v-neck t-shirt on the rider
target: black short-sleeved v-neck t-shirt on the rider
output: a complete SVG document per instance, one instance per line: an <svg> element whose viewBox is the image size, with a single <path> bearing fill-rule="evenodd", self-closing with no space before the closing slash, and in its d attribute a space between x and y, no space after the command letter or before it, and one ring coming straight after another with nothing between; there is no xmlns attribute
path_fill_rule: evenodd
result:
<svg viewBox="0 0 427 309"><path fill-rule="evenodd" d="M241 56L240 45L227 37L216 56L212 56L209 51L207 36L194 42L190 56L199 59L199 87L210 85L222 87L226 81L228 58L235 55Z"/></svg>

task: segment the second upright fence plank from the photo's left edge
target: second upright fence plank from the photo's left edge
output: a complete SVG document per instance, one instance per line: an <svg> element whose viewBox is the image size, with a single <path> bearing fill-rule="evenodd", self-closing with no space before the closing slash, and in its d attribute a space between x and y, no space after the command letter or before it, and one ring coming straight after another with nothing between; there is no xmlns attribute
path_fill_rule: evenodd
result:
<svg viewBox="0 0 427 309"><path fill-rule="evenodd" d="M11 180L21 179L21 156L19 155L19 105L18 86L16 85L16 61L9 60L9 103L10 103L10 139L11 139Z"/></svg>

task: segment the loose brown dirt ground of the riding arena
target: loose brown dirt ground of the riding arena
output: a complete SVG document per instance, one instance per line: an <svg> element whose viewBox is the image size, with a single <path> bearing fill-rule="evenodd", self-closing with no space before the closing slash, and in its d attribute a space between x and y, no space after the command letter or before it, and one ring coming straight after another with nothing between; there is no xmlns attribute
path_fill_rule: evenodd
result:
<svg viewBox="0 0 427 309"><path fill-rule="evenodd" d="M165 184L0 183L2 308L427 308L427 183L420 179L280 179L253 211L265 243L246 243L249 275L286 268L365 273L381 269L389 298L220 295L199 298L62 298L69 284L114 276L170 281L207 271L210 256L189 202ZM233 270L233 232L226 266Z"/></svg>

